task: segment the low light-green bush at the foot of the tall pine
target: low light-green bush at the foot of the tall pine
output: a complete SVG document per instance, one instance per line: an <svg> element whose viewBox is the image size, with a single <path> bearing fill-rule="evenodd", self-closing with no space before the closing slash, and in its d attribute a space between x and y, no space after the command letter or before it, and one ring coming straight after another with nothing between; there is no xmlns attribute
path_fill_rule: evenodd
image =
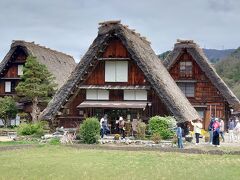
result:
<svg viewBox="0 0 240 180"><path fill-rule="evenodd" d="M17 133L22 136L33 135L41 137L44 134L45 122L20 124L17 128Z"/></svg>

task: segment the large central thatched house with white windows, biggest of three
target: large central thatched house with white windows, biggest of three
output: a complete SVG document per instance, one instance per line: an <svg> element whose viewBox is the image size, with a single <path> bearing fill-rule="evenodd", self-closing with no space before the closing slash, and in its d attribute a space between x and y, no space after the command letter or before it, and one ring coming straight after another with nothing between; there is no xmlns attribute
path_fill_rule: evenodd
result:
<svg viewBox="0 0 240 180"><path fill-rule="evenodd" d="M150 43L120 21L99 23L98 36L40 118L52 126L76 127L86 117L108 115L148 121L172 115L199 118Z"/></svg>

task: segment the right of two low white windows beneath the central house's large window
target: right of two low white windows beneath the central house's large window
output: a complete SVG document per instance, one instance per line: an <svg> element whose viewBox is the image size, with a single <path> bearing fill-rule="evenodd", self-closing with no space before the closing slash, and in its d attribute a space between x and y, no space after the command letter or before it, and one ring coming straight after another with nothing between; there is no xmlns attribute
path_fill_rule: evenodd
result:
<svg viewBox="0 0 240 180"><path fill-rule="evenodd" d="M147 100L146 90L124 90L124 100Z"/></svg>

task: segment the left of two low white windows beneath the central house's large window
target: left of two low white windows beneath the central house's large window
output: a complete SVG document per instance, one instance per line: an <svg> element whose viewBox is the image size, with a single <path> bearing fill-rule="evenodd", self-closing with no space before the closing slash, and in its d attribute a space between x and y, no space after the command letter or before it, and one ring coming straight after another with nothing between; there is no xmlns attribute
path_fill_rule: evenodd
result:
<svg viewBox="0 0 240 180"><path fill-rule="evenodd" d="M87 97L88 100L109 100L109 91L100 89L88 89Z"/></svg>

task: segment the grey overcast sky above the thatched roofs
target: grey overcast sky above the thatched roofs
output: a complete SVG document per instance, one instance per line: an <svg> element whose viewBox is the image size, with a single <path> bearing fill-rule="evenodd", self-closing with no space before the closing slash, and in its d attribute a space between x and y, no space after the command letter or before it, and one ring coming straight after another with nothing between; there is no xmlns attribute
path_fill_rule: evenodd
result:
<svg viewBox="0 0 240 180"><path fill-rule="evenodd" d="M159 54L176 39L214 49L240 46L240 0L0 0L0 60L12 40L84 55L98 23L121 20Z"/></svg>

